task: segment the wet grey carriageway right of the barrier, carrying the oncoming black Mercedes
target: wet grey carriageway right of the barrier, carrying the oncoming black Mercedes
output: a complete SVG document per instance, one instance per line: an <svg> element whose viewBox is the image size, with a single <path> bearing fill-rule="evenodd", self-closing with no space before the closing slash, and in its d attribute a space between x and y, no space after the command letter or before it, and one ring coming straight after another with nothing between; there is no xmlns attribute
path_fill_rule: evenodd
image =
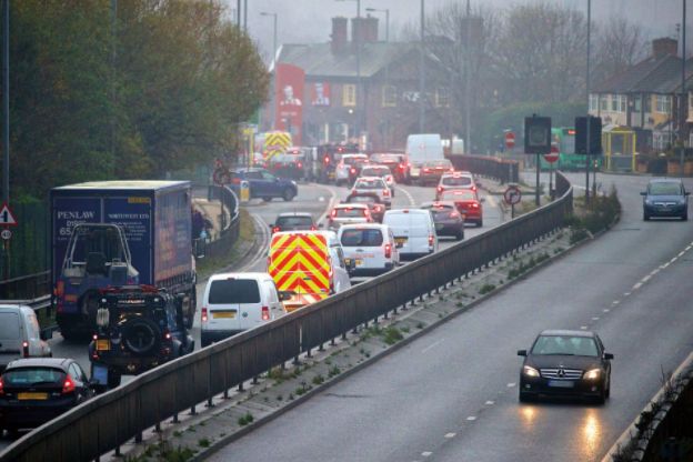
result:
<svg viewBox="0 0 693 462"><path fill-rule="evenodd" d="M642 221L646 178L597 181L619 189L612 231L211 460L601 460L693 349L693 230ZM515 351L549 328L600 332L615 354L605 405L518 402Z"/></svg>

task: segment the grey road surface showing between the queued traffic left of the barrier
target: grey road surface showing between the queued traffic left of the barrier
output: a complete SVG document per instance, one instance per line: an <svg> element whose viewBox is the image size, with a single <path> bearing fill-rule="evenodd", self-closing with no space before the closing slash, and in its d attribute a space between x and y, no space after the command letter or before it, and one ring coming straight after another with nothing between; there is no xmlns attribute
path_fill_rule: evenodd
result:
<svg viewBox="0 0 693 462"><path fill-rule="evenodd" d="M267 271L267 248L270 239L270 224L274 222L277 215L287 211L310 212L317 221L324 221L325 212L329 211L331 204L339 203L346 198L349 189L345 187L334 187L325 184L300 184L299 194L291 202L284 202L275 199L271 202L253 200L248 204L248 211L253 220L257 221L255 239L259 242L258 249L247 261L244 261L238 271ZM424 201L429 201L434 195L434 189L420 187L398 185L395 197L393 199L393 208L413 207ZM468 228L465 237L472 237L483 232L490 227L501 223L503 217L498 207L498 199L493 197L486 198L484 203L484 228ZM441 239L441 249L453 245L456 241L448 238ZM229 262L231 263L231 262ZM363 281L368 278L354 279L354 283ZM205 282L198 284L198 301L202 300ZM198 307L199 312L199 307ZM283 313L275 313L277 317ZM195 319L192 337L195 339L195 345L200 345L200 319ZM62 339L59 332L54 333L52 340L49 341L53 355L56 358L73 358L80 365L89 372L90 362L87 354L87 345L83 342L69 342ZM199 346L198 346L199 348ZM122 383L128 383L133 376L123 376ZM11 441L7 438L0 440L0 451L4 449Z"/></svg>

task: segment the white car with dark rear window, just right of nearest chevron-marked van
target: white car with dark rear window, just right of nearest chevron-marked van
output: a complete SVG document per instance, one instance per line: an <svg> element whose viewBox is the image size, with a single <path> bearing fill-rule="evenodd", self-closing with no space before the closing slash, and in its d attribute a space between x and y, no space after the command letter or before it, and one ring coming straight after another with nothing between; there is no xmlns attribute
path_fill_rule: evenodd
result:
<svg viewBox="0 0 693 462"><path fill-rule="evenodd" d="M354 269L351 275L380 274L400 263L400 251L390 227L380 223L344 224L339 230L344 257Z"/></svg>

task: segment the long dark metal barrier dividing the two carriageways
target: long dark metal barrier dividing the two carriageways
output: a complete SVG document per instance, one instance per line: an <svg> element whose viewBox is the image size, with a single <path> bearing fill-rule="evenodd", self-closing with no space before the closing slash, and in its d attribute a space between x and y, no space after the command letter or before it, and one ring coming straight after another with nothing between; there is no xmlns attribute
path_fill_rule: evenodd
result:
<svg viewBox="0 0 693 462"><path fill-rule="evenodd" d="M352 287L269 324L199 350L73 409L14 442L2 460L92 460L142 431L211 400L346 333L396 312L425 293L510 255L554 232L572 211L570 183L561 199L441 252Z"/></svg>

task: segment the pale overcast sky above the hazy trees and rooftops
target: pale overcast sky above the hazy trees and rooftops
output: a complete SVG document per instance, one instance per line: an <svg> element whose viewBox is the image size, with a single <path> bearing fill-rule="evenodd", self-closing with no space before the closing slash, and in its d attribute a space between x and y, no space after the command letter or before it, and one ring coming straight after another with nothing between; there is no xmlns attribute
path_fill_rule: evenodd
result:
<svg viewBox="0 0 693 462"><path fill-rule="evenodd" d="M235 9L238 0L222 0L228 8ZM451 2L464 3L465 0L425 0L425 11ZM511 4L531 4L538 0L471 0L472 8L485 4L493 8L506 8ZM586 11L587 0L545 0L548 2ZM592 13L595 20L614 16L624 16L645 26L653 36L676 36L675 24L681 22L683 0L592 0ZM354 17L355 0L241 0L248 3L248 28L251 36L267 57L272 47L272 18L260 16L261 11L277 12L279 43L310 43L330 40L331 18L334 16ZM408 22L418 21L420 0L361 0L361 13L365 8L390 9L391 33L400 30ZM687 11L687 21L692 23L693 4ZM384 14L380 22L381 39L384 34ZM686 30L693 37L693 30ZM687 40L686 40L687 41ZM686 53L687 54L687 53Z"/></svg>

